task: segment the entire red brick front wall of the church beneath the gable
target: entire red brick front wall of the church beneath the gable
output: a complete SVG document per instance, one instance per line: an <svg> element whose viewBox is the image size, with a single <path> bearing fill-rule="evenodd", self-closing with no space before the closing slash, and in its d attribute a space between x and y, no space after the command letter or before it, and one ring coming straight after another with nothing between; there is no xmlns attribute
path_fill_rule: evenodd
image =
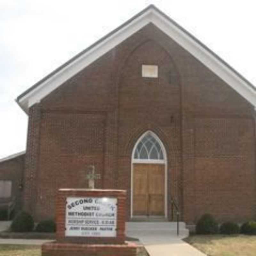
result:
<svg viewBox="0 0 256 256"><path fill-rule="evenodd" d="M158 65L159 77L142 78L141 64ZM40 115L33 108L26 173L38 177L25 199L37 217L53 215L58 188L87 186L88 164L104 177L97 187L127 189L129 198L132 148L147 130L164 143L168 194L184 220L255 215L253 107L152 24L48 95Z"/></svg>

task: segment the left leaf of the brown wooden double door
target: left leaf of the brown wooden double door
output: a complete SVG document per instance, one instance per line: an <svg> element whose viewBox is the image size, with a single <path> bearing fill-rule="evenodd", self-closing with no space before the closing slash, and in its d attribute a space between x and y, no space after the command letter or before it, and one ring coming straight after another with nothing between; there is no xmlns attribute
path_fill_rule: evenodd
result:
<svg viewBox="0 0 256 256"><path fill-rule="evenodd" d="M148 214L148 171L143 164L133 165L133 215Z"/></svg>

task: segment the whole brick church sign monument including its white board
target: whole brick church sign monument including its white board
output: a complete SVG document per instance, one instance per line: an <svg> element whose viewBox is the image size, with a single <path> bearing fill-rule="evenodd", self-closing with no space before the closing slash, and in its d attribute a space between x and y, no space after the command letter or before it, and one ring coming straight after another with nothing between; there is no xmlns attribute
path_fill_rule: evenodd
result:
<svg viewBox="0 0 256 256"><path fill-rule="evenodd" d="M42 256L135 256L125 205L125 190L59 189L56 241L42 245Z"/></svg>

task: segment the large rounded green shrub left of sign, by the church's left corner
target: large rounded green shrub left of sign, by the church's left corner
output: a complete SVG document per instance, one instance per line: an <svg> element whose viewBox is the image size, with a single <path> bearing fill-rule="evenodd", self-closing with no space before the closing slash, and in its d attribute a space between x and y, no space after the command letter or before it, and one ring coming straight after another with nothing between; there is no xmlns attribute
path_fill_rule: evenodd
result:
<svg viewBox="0 0 256 256"><path fill-rule="evenodd" d="M13 232L30 232L34 229L33 217L27 212L20 212L12 221L11 230Z"/></svg>

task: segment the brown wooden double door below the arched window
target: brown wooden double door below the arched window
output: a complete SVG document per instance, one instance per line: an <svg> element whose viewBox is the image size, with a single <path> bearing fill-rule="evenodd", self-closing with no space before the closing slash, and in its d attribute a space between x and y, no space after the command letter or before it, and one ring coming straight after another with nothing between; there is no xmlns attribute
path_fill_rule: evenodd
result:
<svg viewBox="0 0 256 256"><path fill-rule="evenodd" d="M164 164L133 164L133 216L164 216L164 173Z"/></svg>

